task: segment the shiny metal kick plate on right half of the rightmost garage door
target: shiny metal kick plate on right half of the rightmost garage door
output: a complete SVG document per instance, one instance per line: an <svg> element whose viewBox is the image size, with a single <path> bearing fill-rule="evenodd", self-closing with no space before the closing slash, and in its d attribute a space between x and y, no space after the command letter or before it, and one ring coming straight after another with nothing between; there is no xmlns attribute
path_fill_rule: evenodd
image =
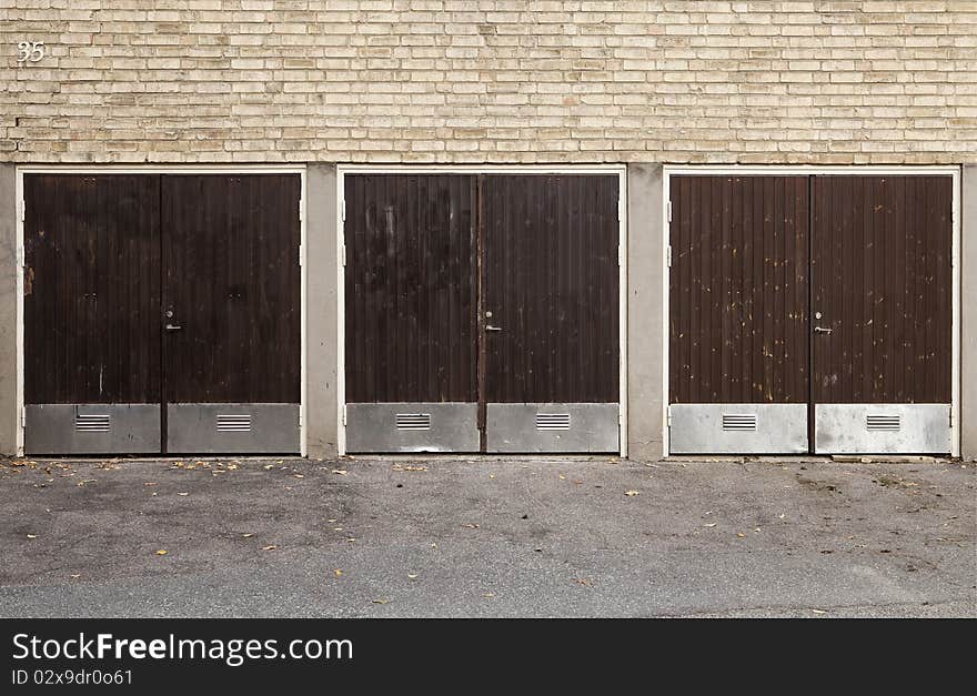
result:
<svg viewBox="0 0 977 696"><path fill-rule="evenodd" d="M815 404L817 454L948 454L949 404Z"/></svg>

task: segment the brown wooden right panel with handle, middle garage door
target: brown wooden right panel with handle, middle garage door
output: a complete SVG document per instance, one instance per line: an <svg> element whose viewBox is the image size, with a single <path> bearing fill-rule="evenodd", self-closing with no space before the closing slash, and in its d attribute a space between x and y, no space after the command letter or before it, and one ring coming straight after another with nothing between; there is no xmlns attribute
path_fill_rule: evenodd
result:
<svg viewBox="0 0 977 696"><path fill-rule="evenodd" d="M616 403L616 175L484 175L490 403Z"/></svg>

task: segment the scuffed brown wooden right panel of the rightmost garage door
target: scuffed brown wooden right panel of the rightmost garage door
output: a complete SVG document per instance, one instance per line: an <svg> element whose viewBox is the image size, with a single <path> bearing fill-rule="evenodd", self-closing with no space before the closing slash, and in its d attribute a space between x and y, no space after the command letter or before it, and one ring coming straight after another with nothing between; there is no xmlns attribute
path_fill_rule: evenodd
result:
<svg viewBox="0 0 977 696"><path fill-rule="evenodd" d="M816 176L816 403L949 403L953 178Z"/></svg>

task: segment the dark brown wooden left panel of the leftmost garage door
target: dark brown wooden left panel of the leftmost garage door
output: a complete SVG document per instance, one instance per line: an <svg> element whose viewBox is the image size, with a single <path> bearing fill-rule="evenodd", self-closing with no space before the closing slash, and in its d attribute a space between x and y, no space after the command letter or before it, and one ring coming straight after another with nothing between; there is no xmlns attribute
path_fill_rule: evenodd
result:
<svg viewBox="0 0 977 696"><path fill-rule="evenodd" d="M160 178L23 186L26 402L159 402Z"/></svg>

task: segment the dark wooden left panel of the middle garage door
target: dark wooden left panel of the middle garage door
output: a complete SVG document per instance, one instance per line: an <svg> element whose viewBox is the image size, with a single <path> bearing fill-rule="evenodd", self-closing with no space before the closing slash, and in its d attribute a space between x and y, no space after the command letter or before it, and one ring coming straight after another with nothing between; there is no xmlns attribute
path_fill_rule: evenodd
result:
<svg viewBox="0 0 977 696"><path fill-rule="evenodd" d="M474 178L345 176L346 401L475 402Z"/></svg>

